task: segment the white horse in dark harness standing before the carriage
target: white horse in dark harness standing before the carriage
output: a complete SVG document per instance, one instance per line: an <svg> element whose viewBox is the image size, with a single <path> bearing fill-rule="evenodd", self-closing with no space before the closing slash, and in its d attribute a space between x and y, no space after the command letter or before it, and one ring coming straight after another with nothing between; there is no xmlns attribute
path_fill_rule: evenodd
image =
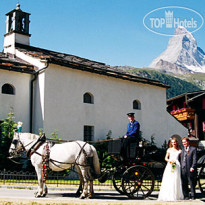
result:
<svg viewBox="0 0 205 205"><path fill-rule="evenodd" d="M43 197L47 194L47 187L42 176L42 156L45 153L45 139L42 140L38 135L31 133L15 133L11 143L9 154L10 157L17 156L22 150L26 151L31 159L32 165L35 167L38 177L38 189L35 193L36 197ZM61 144L49 145L50 153L48 166L53 171L62 171L75 166L81 182L83 184L82 194L80 198L92 197L93 191L93 175L91 166L88 161L92 162L96 176L100 176L100 164L96 149L83 141L72 141ZM91 160L89 160L91 159ZM88 185L90 189L88 192Z"/></svg>

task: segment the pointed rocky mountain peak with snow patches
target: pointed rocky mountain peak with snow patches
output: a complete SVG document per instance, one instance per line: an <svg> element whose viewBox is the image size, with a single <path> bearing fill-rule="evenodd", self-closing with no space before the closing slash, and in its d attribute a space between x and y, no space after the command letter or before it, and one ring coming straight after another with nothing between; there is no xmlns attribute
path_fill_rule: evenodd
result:
<svg viewBox="0 0 205 205"><path fill-rule="evenodd" d="M205 53L197 47L196 39L186 28L176 28L167 49L149 66L168 73L205 73Z"/></svg>

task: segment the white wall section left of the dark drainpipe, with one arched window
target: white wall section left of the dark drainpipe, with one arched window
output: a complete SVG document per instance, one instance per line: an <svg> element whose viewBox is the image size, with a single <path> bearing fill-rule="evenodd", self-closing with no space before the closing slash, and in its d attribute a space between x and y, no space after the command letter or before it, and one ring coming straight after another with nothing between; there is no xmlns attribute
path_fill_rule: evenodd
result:
<svg viewBox="0 0 205 205"><path fill-rule="evenodd" d="M30 74L0 69L0 89L5 83L15 88L15 95L2 94L0 91L0 120L8 117L10 109L16 121L22 121L23 131L29 131Z"/></svg>

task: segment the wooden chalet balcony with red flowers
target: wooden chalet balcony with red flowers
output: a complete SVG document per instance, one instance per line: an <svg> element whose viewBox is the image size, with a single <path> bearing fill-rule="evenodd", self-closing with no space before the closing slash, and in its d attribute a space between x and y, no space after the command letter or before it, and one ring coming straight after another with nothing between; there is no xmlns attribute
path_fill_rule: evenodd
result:
<svg viewBox="0 0 205 205"><path fill-rule="evenodd" d="M176 117L179 121L194 120L195 109L181 108L179 110L172 110L170 114Z"/></svg>

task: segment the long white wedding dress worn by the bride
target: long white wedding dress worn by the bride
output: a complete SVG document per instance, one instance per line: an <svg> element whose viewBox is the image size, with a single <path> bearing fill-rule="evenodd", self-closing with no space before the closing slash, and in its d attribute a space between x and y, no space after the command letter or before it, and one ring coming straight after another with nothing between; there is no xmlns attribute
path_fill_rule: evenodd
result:
<svg viewBox="0 0 205 205"><path fill-rule="evenodd" d="M181 150L173 150L169 148L169 159L176 161L176 169L172 169L171 163L167 163L162 177L161 188L158 196L158 201L177 201L183 200L181 185L181 171L179 163L179 155Z"/></svg>

